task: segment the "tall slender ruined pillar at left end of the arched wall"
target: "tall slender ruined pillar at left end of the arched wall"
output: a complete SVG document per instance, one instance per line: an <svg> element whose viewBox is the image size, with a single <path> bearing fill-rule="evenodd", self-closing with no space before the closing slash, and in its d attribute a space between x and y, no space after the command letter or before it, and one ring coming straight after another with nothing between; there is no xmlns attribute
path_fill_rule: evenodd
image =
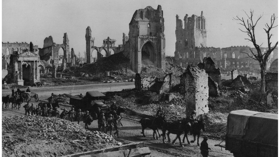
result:
<svg viewBox="0 0 280 157"><path fill-rule="evenodd" d="M94 39L92 38L92 30L90 29L90 26L85 29L85 41L86 41L86 58L87 63L92 63L92 57L91 57L91 47L94 46Z"/></svg>

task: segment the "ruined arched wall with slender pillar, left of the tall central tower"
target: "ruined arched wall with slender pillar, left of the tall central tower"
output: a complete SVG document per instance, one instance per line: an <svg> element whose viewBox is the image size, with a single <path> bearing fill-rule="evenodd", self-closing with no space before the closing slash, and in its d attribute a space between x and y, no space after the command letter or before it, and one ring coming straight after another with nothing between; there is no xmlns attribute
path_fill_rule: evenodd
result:
<svg viewBox="0 0 280 157"><path fill-rule="evenodd" d="M119 53L123 51L125 42L128 40L128 37L123 33L123 44L116 46L116 40L107 39L103 40L103 44L101 47L94 46L95 38L92 37L92 30L90 26L85 29L85 41L86 41L86 58L87 63L94 63L100 57L108 57L114 53Z"/></svg>

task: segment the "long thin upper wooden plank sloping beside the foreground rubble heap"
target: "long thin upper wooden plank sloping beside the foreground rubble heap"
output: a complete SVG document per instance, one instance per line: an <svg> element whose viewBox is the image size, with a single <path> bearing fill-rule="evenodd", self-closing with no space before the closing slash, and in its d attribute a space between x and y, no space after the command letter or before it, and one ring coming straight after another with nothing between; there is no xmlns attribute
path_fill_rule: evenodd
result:
<svg viewBox="0 0 280 157"><path fill-rule="evenodd" d="M135 143L130 143L130 144L124 144L121 146L115 146L115 147L110 147L110 148L104 148L104 149L99 149L99 150L92 150L88 152L82 152L82 153L76 153L76 154L70 154L70 155L65 155L62 157L79 157L81 155L90 155L90 154L98 154L98 153L104 153L104 152L113 152L113 151L119 151L119 150L127 150L127 149L134 149L134 148L141 148L144 147L144 142L135 142Z"/></svg>

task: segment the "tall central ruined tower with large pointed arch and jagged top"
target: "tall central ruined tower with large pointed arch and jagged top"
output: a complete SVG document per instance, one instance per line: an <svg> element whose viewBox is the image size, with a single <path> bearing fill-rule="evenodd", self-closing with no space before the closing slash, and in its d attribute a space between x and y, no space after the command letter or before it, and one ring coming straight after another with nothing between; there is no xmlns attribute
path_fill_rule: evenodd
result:
<svg viewBox="0 0 280 157"><path fill-rule="evenodd" d="M162 7L138 9L129 23L129 39L124 55L130 59L130 68L141 72L142 61L149 60L165 71L165 35Z"/></svg>

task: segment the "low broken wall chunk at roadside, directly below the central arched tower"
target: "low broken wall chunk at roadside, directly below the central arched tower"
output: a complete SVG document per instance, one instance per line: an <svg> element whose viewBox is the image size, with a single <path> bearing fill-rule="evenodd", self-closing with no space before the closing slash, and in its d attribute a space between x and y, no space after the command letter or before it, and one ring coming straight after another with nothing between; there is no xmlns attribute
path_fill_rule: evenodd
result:
<svg viewBox="0 0 280 157"><path fill-rule="evenodd" d="M141 76L140 73L135 74L135 89L137 90L149 90L155 77L151 76Z"/></svg>

